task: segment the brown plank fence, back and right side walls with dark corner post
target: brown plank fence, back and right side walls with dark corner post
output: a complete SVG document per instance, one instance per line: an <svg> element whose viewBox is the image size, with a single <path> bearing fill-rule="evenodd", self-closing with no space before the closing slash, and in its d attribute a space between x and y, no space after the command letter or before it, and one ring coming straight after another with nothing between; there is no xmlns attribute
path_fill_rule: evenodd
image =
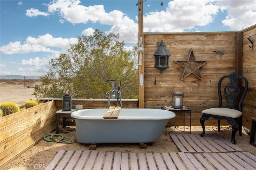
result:
<svg viewBox="0 0 256 170"><path fill-rule="evenodd" d="M192 125L200 125L201 111L218 106L218 80L236 72L249 82L243 103L243 125L250 128L252 117L256 117L256 47L249 47L252 45L248 37L256 42L256 25L231 32L144 33L144 108L170 106L172 93L182 92L185 105L192 109ZM162 74L154 68L154 53L161 41L171 54L169 68ZM175 61L187 61L191 48L196 61L208 61L199 68L202 80L194 74L180 80L184 68ZM216 125L216 121L206 123Z"/></svg>

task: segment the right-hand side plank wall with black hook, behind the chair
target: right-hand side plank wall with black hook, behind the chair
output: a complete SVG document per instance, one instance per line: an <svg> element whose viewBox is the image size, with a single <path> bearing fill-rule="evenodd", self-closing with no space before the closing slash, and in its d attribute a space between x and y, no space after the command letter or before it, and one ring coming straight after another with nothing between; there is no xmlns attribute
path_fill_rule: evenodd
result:
<svg viewBox="0 0 256 170"><path fill-rule="evenodd" d="M248 129L252 126L252 117L256 117L256 25L243 31L243 76L249 82L248 92L243 102L243 125ZM254 42L254 48L247 39ZM250 47L249 47L250 46Z"/></svg>

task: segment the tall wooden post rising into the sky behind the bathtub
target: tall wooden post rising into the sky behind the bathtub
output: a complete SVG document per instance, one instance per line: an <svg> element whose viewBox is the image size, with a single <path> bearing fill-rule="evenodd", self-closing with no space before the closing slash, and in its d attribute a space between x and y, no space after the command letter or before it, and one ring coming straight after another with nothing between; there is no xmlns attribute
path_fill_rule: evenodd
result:
<svg viewBox="0 0 256 170"><path fill-rule="evenodd" d="M143 0L138 0L138 11L139 9L141 10L141 13L138 13L138 25L139 25L139 30L138 30L138 43L140 40L140 36L142 36L142 43L144 42L144 31L143 31ZM143 43L144 44L144 43ZM140 54L138 53L138 57ZM139 108L144 108L144 85L140 85L140 76L143 76L144 79L144 52L141 53L142 56L142 65L138 65L138 73L139 73L139 82L138 82L138 87L139 87ZM138 60L139 61L139 60ZM143 80L144 81L144 80Z"/></svg>

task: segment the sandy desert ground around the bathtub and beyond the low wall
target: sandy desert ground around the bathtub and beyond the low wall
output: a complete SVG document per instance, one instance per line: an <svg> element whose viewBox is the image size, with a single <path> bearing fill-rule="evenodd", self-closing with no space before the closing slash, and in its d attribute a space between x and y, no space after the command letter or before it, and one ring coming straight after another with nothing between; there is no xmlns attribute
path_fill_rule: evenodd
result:
<svg viewBox="0 0 256 170"><path fill-rule="evenodd" d="M2 102L15 102L18 105L23 104L28 100L36 100L32 95L34 92L34 84L38 81L33 81L30 88L24 86L24 80L20 81L3 81L0 82L0 103ZM222 126L221 132L218 132L217 127L208 126L206 127L206 133L218 133L218 135L224 137L230 141L231 137L231 127ZM191 133L201 133L202 127L192 126ZM55 134L52 131L52 134ZM185 131L172 131L171 133L189 133L189 127L185 127ZM242 136L240 137L238 133L236 134L236 145L245 151L251 152L256 155L256 147L250 145L250 136L244 131L242 131ZM75 127L66 127L60 129L60 134L66 139L76 141L76 129ZM5 164L0 169L1 170L32 170L35 169L34 165L44 165L46 166L52 158L56 155L59 150L89 150L87 144L80 143L56 143L47 142L43 139L40 140L36 145L30 147L14 160ZM165 135L163 131L160 139L155 141L152 146L147 146L146 149L140 149L139 144L98 144L97 151L113 151L113 152L179 152L176 145L173 143L170 135Z"/></svg>

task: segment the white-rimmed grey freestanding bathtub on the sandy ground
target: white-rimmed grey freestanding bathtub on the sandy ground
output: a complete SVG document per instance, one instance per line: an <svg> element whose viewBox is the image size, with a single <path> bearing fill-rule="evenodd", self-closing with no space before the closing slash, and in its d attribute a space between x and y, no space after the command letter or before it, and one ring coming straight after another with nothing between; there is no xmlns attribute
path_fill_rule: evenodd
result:
<svg viewBox="0 0 256 170"><path fill-rule="evenodd" d="M82 109L76 120L78 143L152 143L175 113L163 109L121 109L117 119L104 119L108 109Z"/></svg>

